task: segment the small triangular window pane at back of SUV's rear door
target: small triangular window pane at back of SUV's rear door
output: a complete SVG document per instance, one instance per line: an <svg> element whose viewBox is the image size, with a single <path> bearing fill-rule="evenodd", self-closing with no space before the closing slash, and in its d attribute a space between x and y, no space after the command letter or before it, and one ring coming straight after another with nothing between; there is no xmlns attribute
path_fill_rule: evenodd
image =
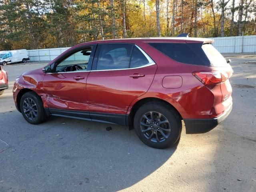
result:
<svg viewBox="0 0 256 192"><path fill-rule="evenodd" d="M136 46L134 46L130 68L140 67L148 63L148 59L144 56L144 54Z"/></svg>

